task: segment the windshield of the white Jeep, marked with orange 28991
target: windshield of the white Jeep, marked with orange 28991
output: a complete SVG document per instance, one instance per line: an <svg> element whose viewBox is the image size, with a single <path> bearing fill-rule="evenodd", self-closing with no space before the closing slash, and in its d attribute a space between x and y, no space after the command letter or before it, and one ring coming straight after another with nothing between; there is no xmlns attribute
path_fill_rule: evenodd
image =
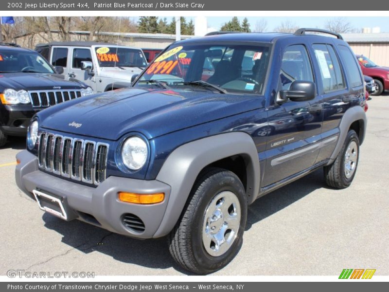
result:
<svg viewBox="0 0 389 292"><path fill-rule="evenodd" d="M142 51L122 47L96 47L100 67L140 67L147 66Z"/></svg>

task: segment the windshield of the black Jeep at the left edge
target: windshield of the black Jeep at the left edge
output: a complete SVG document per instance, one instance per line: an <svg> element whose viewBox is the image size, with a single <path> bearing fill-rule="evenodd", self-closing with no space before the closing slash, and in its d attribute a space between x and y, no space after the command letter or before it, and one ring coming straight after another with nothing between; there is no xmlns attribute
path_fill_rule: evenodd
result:
<svg viewBox="0 0 389 292"><path fill-rule="evenodd" d="M0 50L0 73L54 73L49 63L34 52Z"/></svg>

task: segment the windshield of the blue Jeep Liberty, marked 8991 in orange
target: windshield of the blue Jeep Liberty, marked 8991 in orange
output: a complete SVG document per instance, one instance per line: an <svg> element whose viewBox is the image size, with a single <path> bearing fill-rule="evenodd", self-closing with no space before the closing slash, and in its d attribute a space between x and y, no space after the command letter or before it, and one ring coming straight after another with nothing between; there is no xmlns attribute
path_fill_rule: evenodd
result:
<svg viewBox="0 0 389 292"><path fill-rule="evenodd" d="M135 87L255 93L264 89L269 44L188 44L172 46L143 71Z"/></svg>

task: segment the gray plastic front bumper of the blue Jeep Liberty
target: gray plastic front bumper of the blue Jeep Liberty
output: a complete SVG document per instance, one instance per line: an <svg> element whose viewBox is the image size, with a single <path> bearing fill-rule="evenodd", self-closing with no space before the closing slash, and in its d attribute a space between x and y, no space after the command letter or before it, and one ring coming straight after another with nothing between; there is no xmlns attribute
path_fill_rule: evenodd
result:
<svg viewBox="0 0 389 292"><path fill-rule="evenodd" d="M33 190L59 198L68 221L79 219L125 236L152 238L165 216L171 191L170 186L165 183L110 176L97 187L91 187L40 171L36 156L27 150L19 152L17 159L20 161L15 171L18 187L33 200L35 200ZM132 204L118 200L120 191L163 192L165 198L157 204ZM126 214L139 217L144 223L144 231L127 228L122 220Z"/></svg>

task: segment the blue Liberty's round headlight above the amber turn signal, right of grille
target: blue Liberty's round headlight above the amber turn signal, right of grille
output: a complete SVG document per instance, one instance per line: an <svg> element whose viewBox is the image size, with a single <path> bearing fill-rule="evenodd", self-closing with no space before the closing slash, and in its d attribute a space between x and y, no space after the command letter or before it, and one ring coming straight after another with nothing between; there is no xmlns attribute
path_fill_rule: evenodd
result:
<svg viewBox="0 0 389 292"><path fill-rule="evenodd" d="M122 160L132 170L140 169L147 160L147 144L143 139L133 136L124 141Z"/></svg>

